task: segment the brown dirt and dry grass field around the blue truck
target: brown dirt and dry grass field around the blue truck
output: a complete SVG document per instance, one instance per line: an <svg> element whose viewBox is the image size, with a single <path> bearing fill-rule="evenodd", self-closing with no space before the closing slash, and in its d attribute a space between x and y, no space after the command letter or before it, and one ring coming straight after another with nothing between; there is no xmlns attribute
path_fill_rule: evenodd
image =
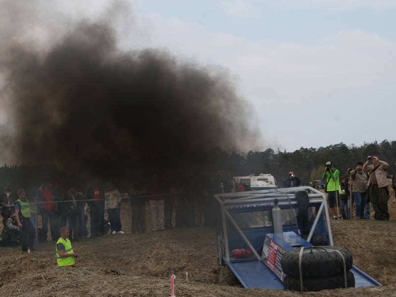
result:
<svg viewBox="0 0 396 297"><path fill-rule="evenodd" d="M335 244L350 248L356 266L389 285L305 296L396 296L395 198L390 199L390 209L389 222L332 222ZM129 205L124 203L123 229L127 234L83 239L73 244L80 254L76 268L57 268L52 242L40 244L32 253L29 273L26 254L19 248L0 248L0 296L170 296L171 273L176 274L177 297L300 296L293 292L231 286L233 278L229 271L220 269L216 263L214 233L210 228L130 234L129 213Z"/></svg>

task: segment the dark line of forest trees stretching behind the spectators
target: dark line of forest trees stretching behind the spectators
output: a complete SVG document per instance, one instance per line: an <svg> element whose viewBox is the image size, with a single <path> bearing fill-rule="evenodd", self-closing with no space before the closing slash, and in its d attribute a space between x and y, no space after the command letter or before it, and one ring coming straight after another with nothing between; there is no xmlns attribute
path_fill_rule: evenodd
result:
<svg viewBox="0 0 396 297"><path fill-rule="evenodd" d="M87 186L94 177L100 177L113 180L118 189L127 191L134 180L149 179L154 173L179 174L194 181L202 175L213 178L220 169L225 170L228 178L270 173L280 187L288 178L289 170L295 170L302 184L309 185L321 178L326 161L331 161L340 170L340 175L346 175L347 166L354 168L357 161L364 162L368 155L379 155L380 160L389 163L388 173L396 172L396 141L384 140L381 143L365 143L361 146L340 143L320 148L300 148L293 152L268 148L264 151L251 150L243 153L235 149L223 150L216 147L211 150L197 149L193 154L179 156L177 160L166 160L166 157L161 160L133 159L131 156L82 160L77 172L55 166L4 164L0 167L0 185L10 182L14 190L23 187L34 191L44 178L51 183L61 182L66 185L78 180Z"/></svg>

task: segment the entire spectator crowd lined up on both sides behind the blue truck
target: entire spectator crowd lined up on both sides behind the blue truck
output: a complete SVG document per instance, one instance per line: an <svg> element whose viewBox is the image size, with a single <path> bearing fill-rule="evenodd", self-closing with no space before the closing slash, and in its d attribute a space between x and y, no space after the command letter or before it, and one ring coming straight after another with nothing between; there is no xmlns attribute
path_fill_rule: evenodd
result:
<svg viewBox="0 0 396 297"><path fill-rule="evenodd" d="M333 219L350 219L353 203L356 218L369 219L371 203L375 219L389 220L388 186L392 177L388 175L388 167L388 163L379 160L378 156L368 156L365 163L357 162L355 168L348 167L346 175L341 176L340 171L328 161L322 181ZM393 179L395 183L396 178ZM298 187L300 184L295 171L291 170L284 187ZM6 182L0 196L3 225L0 246L21 245L23 250L33 248L35 229L40 242L47 242L49 236L52 241L57 241L62 227L68 228L72 241L103 236L109 228L112 235L124 234L121 207L126 200L131 205L132 233L147 231L146 209L150 213L152 232L214 226L213 195L244 191L249 191L249 185L231 179L224 170L218 170L213 178L209 174L187 177L183 172L152 174L147 179L135 179L124 191L119 191L113 182L100 179L94 179L87 188L80 182L65 186L44 179L34 198L27 198L24 189L19 189L15 195L11 184ZM34 226L38 222L30 217L33 204L41 218L38 228ZM90 228L87 228L88 217Z"/></svg>

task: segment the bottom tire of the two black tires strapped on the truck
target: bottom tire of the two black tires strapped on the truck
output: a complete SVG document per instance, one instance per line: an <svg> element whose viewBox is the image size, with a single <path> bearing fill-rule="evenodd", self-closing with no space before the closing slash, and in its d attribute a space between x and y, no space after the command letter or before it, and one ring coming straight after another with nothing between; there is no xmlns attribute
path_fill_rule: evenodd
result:
<svg viewBox="0 0 396 297"><path fill-rule="evenodd" d="M283 280L285 290L290 291L301 291L300 281L297 278L287 275ZM321 290L331 290L337 288L345 288L344 273L339 275L333 275L330 277L323 278L304 278L302 280L302 286L304 292L316 292ZM353 273L347 272L347 287L355 286L355 278Z"/></svg>

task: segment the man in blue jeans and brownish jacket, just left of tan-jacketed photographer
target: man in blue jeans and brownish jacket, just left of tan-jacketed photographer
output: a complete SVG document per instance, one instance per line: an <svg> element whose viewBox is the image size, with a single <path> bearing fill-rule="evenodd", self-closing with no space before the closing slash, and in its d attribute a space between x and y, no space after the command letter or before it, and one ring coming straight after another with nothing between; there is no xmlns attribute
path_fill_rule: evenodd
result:
<svg viewBox="0 0 396 297"><path fill-rule="evenodd" d="M357 162L356 169L349 171L352 182L352 197L356 203L356 218L370 218L370 202L366 203L367 196L367 174L363 171L363 163Z"/></svg>

